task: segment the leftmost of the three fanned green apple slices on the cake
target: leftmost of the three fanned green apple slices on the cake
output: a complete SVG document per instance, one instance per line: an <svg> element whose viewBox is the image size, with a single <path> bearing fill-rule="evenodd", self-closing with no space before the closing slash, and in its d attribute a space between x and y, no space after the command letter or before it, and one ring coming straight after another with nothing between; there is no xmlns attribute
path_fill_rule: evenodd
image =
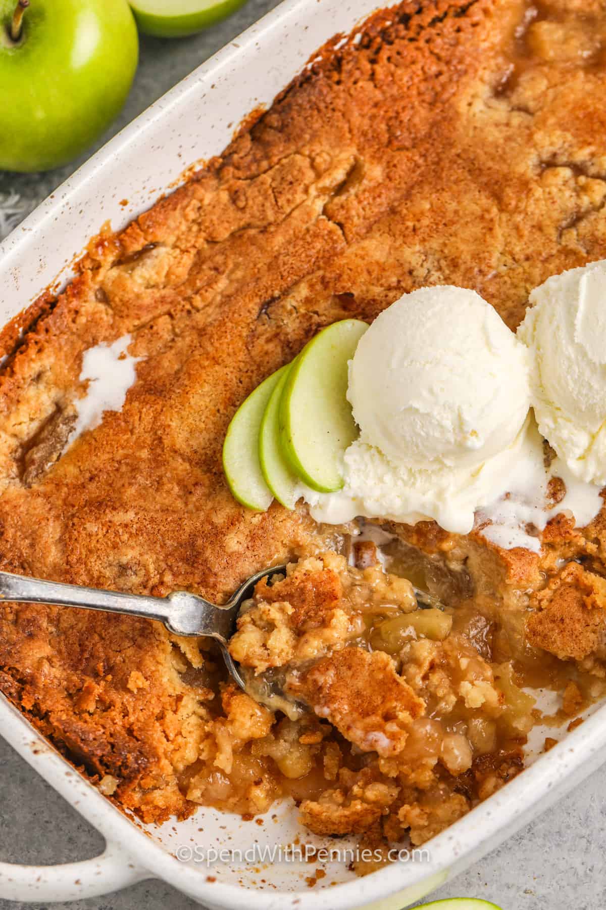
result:
<svg viewBox="0 0 606 910"><path fill-rule="evenodd" d="M273 495L259 464L259 430L267 402L288 366L264 379L233 415L223 447L225 478L233 497L247 509L267 511Z"/></svg>

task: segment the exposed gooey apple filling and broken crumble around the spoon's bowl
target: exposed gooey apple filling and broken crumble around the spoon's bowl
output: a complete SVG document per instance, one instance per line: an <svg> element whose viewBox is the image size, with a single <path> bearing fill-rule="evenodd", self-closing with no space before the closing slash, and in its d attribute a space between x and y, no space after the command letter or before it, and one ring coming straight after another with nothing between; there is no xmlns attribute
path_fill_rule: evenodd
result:
<svg viewBox="0 0 606 910"><path fill-rule="evenodd" d="M259 582L230 652L282 700L228 687L264 726L232 723L222 748L230 780L269 761L265 786L315 833L422 844L522 770L535 723L574 723L603 694L606 582L575 559L507 565L432 522L388 527ZM447 605L422 608L412 583ZM544 717L528 686L559 691L560 711Z"/></svg>

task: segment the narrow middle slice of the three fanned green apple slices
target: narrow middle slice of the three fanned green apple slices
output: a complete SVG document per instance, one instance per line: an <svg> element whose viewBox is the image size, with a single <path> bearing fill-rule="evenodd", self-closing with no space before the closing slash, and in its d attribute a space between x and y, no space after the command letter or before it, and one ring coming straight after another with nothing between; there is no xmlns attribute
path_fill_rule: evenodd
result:
<svg viewBox="0 0 606 910"><path fill-rule="evenodd" d="M284 457L280 441L280 401L291 369L292 365L289 364L276 382L259 430L259 461L263 478L276 500L286 509L294 509L303 486Z"/></svg>

